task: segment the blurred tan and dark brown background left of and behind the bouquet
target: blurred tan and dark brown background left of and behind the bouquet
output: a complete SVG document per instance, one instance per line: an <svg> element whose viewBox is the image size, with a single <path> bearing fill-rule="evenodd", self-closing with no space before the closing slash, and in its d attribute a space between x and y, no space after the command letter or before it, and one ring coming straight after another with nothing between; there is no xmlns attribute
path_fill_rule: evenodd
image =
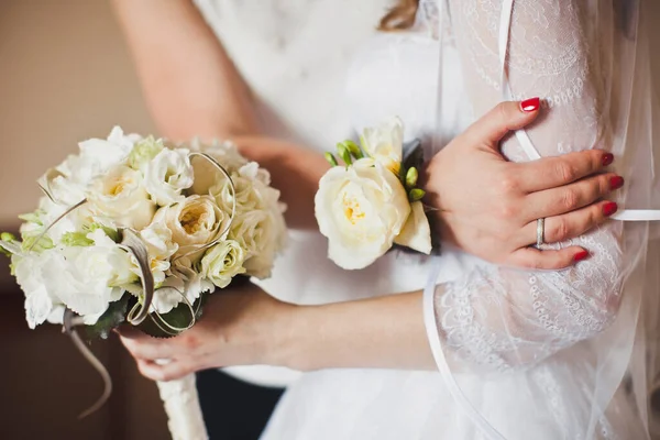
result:
<svg viewBox="0 0 660 440"><path fill-rule="evenodd" d="M114 124L153 131L108 1L0 0L0 230L35 208L47 167ZM58 326L28 329L7 266L0 256L0 439L167 438L155 385L114 338L92 346L113 377L111 400L77 420L100 378Z"/></svg>

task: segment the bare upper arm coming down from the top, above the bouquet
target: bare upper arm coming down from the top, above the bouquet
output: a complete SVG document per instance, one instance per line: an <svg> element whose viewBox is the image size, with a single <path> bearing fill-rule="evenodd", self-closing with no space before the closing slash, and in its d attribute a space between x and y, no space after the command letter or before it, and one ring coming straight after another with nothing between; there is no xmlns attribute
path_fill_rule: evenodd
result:
<svg viewBox="0 0 660 440"><path fill-rule="evenodd" d="M113 0L144 98L173 140L257 133L246 85L190 0Z"/></svg>

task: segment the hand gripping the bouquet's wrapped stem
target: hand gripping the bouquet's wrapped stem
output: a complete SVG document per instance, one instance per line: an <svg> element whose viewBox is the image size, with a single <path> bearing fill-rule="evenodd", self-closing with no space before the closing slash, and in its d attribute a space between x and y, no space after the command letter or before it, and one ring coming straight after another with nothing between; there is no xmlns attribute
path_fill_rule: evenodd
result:
<svg viewBox="0 0 660 440"><path fill-rule="evenodd" d="M130 327L118 332L144 376L172 381L212 367L273 364L295 308L248 284L210 295L199 322L176 338L156 339Z"/></svg>

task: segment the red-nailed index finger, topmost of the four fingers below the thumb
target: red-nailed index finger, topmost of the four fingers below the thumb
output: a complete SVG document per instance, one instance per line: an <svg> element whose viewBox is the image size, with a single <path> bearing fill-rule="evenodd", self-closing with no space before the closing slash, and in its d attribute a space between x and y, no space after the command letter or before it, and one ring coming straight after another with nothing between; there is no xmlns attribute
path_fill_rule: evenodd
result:
<svg viewBox="0 0 660 440"><path fill-rule="evenodd" d="M603 150L586 150L538 161L512 164L518 175L519 187L527 193L554 188L602 173L612 164L614 155Z"/></svg>

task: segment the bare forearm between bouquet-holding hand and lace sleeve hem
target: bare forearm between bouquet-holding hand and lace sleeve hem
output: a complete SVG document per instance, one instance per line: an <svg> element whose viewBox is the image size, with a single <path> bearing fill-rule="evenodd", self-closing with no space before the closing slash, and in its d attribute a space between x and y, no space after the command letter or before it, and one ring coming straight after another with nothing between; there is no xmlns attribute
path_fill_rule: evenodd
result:
<svg viewBox="0 0 660 440"><path fill-rule="evenodd" d="M435 370L421 292L301 306L286 322L274 363L296 370Z"/></svg>

